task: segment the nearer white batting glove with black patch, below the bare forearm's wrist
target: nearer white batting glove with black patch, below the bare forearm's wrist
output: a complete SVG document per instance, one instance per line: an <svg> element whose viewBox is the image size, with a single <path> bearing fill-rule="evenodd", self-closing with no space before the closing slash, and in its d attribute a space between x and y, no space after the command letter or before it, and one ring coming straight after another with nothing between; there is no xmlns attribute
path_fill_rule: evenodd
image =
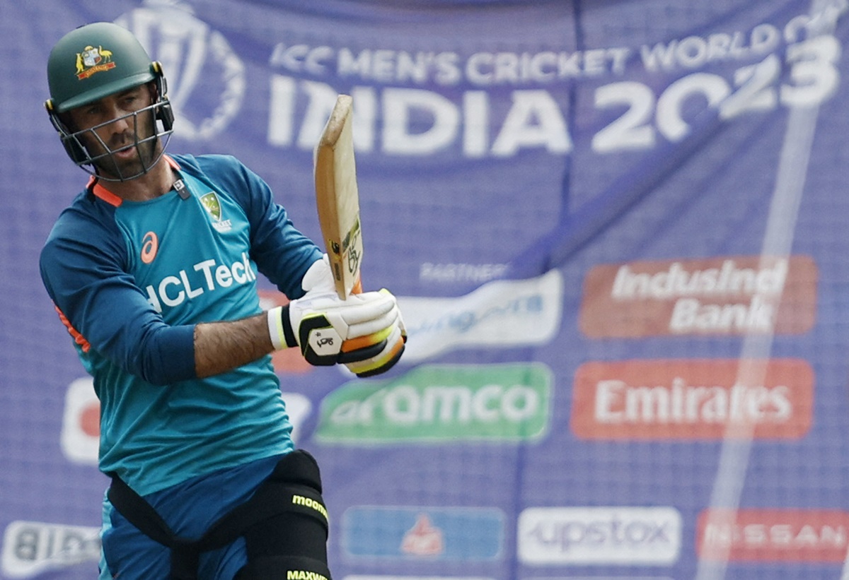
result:
<svg viewBox="0 0 849 580"><path fill-rule="evenodd" d="M269 310L268 330L276 349L297 346L311 365L357 363L380 357L400 315L388 291L346 300L335 292L312 291Z"/></svg>

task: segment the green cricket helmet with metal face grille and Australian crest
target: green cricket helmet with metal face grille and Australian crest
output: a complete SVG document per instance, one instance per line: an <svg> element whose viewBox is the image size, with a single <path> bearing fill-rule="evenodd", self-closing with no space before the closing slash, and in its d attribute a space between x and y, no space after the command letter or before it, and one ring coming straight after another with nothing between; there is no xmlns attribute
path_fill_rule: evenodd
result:
<svg viewBox="0 0 849 580"><path fill-rule="evenodd" d="M164 153L167 140L171 136L174 114L166 95L167 85L165 76L162 74L162 66L159 62L150 59L147 51L132 32L112 22L95 22L80 26L59 39L48 58L50 98L44 105L48 109L53 126L59 132L65 151L76 165L93 175L98 175L96 165L109 163L112 152L93 131L98 127L72 131L65 122L64 114L70 109L94 103L101 98L149 82L156 83L155 103L126 117L133 117L133 126L136 126L138 131L138 114L143 111L152 111L151 118L154 124L152 134L143 139L139 139L137 134L135 145L138 148L142 142L166 137L161 151L155 159L148 159L146 163L143 163L143 170L136 175L121 176L118 171L119 175L115 179L100 175L103 179L125 181L143 175L159 161ZM81 139L87 132L90 132L88 139L100 142L106 153L93 156L87 151L84 139ZM83 165L92 167L88 169ZM117 169L114 159L111 159L111 165Z"/></svg>

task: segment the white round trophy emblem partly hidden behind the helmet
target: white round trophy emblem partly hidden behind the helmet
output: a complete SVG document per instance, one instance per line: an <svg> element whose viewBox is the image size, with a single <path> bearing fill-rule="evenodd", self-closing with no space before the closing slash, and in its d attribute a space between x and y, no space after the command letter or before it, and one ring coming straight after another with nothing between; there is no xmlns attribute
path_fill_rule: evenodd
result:
<svg viewBox="0 0 849 580"><path fill-rule="evenodd" d="M173 0L145 0L115 24L132 31L162 63L177 137L209 141L227 128L245 98L245 64L220 32L187 3Z"/></svg>

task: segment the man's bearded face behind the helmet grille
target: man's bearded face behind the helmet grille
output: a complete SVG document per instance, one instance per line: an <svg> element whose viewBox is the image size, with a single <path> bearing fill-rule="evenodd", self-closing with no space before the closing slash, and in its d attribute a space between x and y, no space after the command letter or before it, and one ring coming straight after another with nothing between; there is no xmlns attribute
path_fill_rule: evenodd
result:
<svg viewBox="0 0 849 580"><path fill-rule="evenodd" d="M121 178L149 169L160 142L153 111L142 109L153 102L151 86L141 85L68 111L99 174Z"/></svg>

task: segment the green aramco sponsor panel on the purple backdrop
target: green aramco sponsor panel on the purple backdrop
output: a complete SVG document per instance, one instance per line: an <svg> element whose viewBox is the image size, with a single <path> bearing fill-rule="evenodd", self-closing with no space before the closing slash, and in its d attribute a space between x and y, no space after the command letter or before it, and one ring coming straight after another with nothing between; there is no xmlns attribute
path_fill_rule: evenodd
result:
<svg viewBox="0 0 849 580"><path fill-rule="evenodd" d="M322 402L323 443L526 441L548 431L552 373L541 363L422 365L348 382Z"/></svg>

